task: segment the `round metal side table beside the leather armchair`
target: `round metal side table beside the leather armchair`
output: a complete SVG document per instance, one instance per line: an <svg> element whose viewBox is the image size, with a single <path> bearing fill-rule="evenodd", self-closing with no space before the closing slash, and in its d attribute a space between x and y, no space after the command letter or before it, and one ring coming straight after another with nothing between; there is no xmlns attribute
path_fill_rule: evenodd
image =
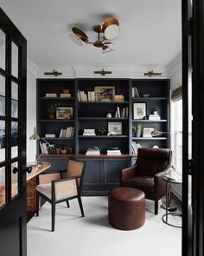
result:
<svg viewBox="0 0 204 256"><path fill-rule="evenodd" d="M168 222L168 216L172 215L172 216L182 217L182 213L168 213L168 208L169 208L169 198L170 198L170 193L171 193L171 184L182 184L182 180L176 180L176 179L173 180L167 176L164 176L163 181L166 181L166 213L163 214L162 220L164 223L166 223L169 226L181 228L182 226L170 224Z"/></svg>

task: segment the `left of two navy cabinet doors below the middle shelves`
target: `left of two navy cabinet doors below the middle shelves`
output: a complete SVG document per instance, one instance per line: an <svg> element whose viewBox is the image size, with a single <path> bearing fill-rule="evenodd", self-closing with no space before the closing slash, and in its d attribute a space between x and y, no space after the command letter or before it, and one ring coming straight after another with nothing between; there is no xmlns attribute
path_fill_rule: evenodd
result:
<svg viewBox="0 0 204 256"><path fill-rule="evenodd" d="M78 161L82 161L79 159ZM86 159L85 174L84 174L84 186L99 186L104 182L103 168L101 159Z"/></svg>

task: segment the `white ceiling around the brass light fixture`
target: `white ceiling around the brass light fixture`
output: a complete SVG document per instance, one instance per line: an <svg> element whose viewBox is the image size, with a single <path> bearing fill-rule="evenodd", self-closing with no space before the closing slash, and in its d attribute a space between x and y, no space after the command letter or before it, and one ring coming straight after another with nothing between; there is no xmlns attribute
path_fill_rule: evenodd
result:
<svg viewBox="0 0 204 256"><path fill-rule="evenodd" d="M0 6L28 40L37 65L130 64L166 66L182 45L181 0L0 0ZM77 26L91 40L92 26L115 16L120 35L115 51L80 47L69 34Z"/></svg>

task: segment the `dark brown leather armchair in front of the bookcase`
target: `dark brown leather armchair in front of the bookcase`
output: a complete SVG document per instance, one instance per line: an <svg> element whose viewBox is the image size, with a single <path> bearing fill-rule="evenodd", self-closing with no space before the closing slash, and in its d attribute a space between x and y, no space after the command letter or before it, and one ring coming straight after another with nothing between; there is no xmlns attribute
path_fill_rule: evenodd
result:
<svg viewBox="0 0 204 256"><path fill-rule="evenodd" d="M168 172L171 155L170 149L138 148L136 165L120 171L120 185L141 189L146 199L155 201L155 214L158 200L166 194L163 176Z"/></svg>

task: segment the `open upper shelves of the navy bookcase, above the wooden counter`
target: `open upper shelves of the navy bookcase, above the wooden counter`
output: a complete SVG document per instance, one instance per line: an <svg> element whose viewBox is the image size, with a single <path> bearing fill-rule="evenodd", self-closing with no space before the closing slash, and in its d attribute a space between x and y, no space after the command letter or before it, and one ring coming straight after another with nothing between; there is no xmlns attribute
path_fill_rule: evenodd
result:
<svg viewBox="0 0 204 256"><path fill-rule="evenodd" d="M113 98L110 101L99 101L97 96L94 96L94 92L103 87L113 88L114 95L123 97L123 101L116 102ZM69 92L69 97L60 96L63 90ZM83 92L83 101L80 98L81 92ZM47 96L52 94L56 96ZM144 119L134 119L134 106L137 102L145 103ZM48 116L50 106L72 108L73 114L65 119L58 119L56 116L50 119ZM159 115L159 120L149 120L149 115L152 115L154 109ZM121 126L122 133L108 135L110 123ZM137 124L141 125L142 130L155 128L165 134L147 138L143 136L142 131L137 137L133 132ZM61 137L61 130L70 126L74 127L72 138ZM83 136L83 130L87 128L95 129L96 135ZM105 129L104 134L98 132L101 128ZM110 146L120 148L122 154L132 154L132 141L136 141L142 147L169 148L169 80L38 79L37 131L49 143L61 148L72 148L73 154L86 154L86 149L89 147L99 147L101 154L106 154ZM55 134L55 137L47 138L47 134Z"/></svg>

